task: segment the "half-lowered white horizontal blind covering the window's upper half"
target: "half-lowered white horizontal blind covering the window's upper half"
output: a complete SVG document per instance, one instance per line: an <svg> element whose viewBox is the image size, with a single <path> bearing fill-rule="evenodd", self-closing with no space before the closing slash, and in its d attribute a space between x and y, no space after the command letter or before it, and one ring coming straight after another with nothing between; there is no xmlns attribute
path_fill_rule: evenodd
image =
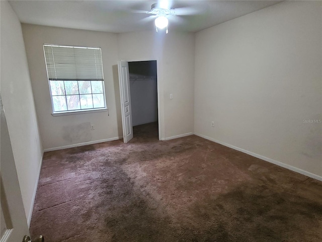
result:
<svg viewBox="0 0 322 242"><path fill-rule="evenodd" d="M44 45L48 79L103 81L101 48Z"/></svg>

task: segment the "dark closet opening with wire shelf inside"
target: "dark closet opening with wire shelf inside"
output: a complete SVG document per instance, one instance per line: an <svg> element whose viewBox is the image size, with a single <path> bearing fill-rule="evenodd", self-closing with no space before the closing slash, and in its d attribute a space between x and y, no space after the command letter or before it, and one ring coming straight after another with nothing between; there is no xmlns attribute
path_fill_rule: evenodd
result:
<svg viewBox="0 0 322 242"><path fill-rule="evenodd" d="M158 139L156 61L129 62L133 136Z"/></svg>

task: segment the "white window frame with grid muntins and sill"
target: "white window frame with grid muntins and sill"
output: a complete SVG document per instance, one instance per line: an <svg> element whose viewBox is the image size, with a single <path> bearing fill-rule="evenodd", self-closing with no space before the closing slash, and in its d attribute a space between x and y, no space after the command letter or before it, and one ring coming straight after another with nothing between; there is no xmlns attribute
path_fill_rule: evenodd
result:
<svg viewBox="0 0 322 242"><path fill-rule="evenodd" d="M78 80L68 80L68 79L64 79L64 78L59 78L56 80L49 80L49 76L48 76L48 66L47 66L47 59L46 59L46 53L45 53L45 46L55 46L55 47L67 47L67 48L85 48L85 49L99 49L101 52L101 59L102 59L102 76L103 79L102 80L82 80L82 79L78 79ZM46 66L46 74L47 74L47 80L48 80L48 88L49 88L49 94L50 94L50 101L51 101L51 109L52 109L52 115L53 116L62 116L62 115L72 115L72 114L85 114L85 113L94 113L94 112L106 112L108 111L108 107L107 107L107 101L106 101L106 90L105 90L105 82L104 82L104 71L103 71L103 56L102 56L102 48L101 47L90 47L90 46L76 46L76 45L58 45L58 44L43 44L43 50L44 50L44 58L45 58L45 66ZM64 82L64 94L62 95L53 95L52 94L52 88L51 88L51 81L63 81ZM77 94L66 94L66 88L65 88L65 81L75 81L77 82ZM90 82L91 85L91 93L85 93L85 94L81 94L79 93L79 82L80 81L87 81ZM99 81L102 83L102 93L93 93L93 88L92 88L92 81ZM87 95L90 94L92 95L92 103L93 103L93 108L82 108L81 105L81 95ZM103 94L103 100L104 100L104 107L94 107L94 94ZM79 97L79 109L73 109L73 110L68 110L68 102L67 102L67 96L71 96L71 95L78 95ZM65 98L65 102L66 102L66 109L67 110L63 110L63 111L54 111L54 101L53 101L53 96L63 96Z"/></svg>

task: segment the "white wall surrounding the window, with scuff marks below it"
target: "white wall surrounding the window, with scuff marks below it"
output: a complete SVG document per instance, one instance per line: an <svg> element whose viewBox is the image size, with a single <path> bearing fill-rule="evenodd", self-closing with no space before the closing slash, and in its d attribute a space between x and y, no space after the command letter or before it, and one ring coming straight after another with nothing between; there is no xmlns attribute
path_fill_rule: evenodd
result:
<svg viewBox="0 0 322 242"><path fill-rule="evenodd" d="M117 34L23 24L23 35L44 149L122 137L117 75ZM43 44L102 48L106 103L109 112L52 116ZM109 115L108 115L109 113ZM90 124L95 126L91 130Z"/></svg>

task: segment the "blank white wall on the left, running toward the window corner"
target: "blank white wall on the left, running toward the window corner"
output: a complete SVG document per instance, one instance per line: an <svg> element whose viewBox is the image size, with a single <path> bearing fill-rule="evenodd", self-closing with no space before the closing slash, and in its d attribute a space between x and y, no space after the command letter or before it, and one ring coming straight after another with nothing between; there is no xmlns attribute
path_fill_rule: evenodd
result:
<svg viewBox="0 0 322 242"><path fill-rule="evenodd" d="M28 222L35 198L42 146L18 17L1 1L1 95Z"/></svg>

